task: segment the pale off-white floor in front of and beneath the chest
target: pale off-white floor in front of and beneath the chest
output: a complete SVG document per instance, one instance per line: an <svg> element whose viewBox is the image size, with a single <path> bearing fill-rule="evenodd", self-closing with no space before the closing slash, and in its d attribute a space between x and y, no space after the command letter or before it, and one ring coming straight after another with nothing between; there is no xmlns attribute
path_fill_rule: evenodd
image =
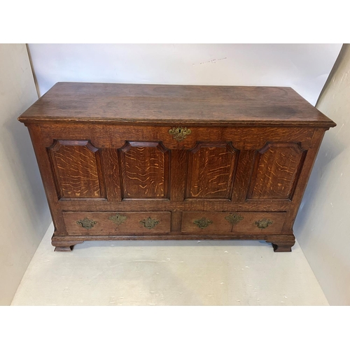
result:
<svg viewBox="0 0 350 350"><path fill-rule="evenodd" d="M66 253L52 231L13 305L328 305L297 243L87 241Z"/></svg>

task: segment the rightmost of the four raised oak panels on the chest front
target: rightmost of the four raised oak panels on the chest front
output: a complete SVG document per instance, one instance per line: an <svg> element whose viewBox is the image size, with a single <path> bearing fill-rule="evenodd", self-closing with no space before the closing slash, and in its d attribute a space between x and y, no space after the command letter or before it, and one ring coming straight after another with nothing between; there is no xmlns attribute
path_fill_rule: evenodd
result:
<svg viewBox="0 0 350 350"><path fill-rule="evenodd" d="M248 199L291 200L307 151L297 143L269 143L255 155Z"/></svg>

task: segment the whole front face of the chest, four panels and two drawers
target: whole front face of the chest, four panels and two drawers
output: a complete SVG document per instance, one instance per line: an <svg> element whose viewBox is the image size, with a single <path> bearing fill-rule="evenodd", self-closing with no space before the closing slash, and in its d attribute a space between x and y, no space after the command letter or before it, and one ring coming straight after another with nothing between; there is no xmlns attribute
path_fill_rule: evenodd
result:
<svg viewBox="0 0 350 350"><path fill-rule="evenodd" d="M281 232L314 132L266 128L262 136L262 128L253 127L188 128L177 141L170 126L133 127L125 134L127 127L104 125L98 135L91 127L41 127L69 235ZM285 212L278 212L281 201ZM87 211L77 210L79 202ZM220 210L223 202L228 211ZM232 224L237 204L244 220ZM151 221L159 221L152 213L162 218L152 229L140 224L147 211ZM113 213L127 220L116 225ZM206 220L209 225L200 227ZM260 221L267 227L259 228Z"/></svg>

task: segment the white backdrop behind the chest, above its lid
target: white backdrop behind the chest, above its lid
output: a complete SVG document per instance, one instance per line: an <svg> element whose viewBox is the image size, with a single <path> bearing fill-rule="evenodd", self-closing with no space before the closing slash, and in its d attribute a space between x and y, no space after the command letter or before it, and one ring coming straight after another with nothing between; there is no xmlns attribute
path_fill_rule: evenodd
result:
<svg viewBox="0 0 350 350"><path fill-rule="evenodd" d="M315 105L342 44L29 44L40 94L58 81L290 86Z"/></svg>

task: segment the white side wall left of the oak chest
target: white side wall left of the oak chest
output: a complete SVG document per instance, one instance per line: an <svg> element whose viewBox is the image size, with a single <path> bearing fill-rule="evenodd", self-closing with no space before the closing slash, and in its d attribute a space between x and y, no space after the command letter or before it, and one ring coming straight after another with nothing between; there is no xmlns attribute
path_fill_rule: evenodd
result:
<svg viewBox="0 0 350 350"><path fill-rule="evenodd" d="M0 305L10 304L50 224L27 128L38 99L25 44L0 44Z"/></svg>

